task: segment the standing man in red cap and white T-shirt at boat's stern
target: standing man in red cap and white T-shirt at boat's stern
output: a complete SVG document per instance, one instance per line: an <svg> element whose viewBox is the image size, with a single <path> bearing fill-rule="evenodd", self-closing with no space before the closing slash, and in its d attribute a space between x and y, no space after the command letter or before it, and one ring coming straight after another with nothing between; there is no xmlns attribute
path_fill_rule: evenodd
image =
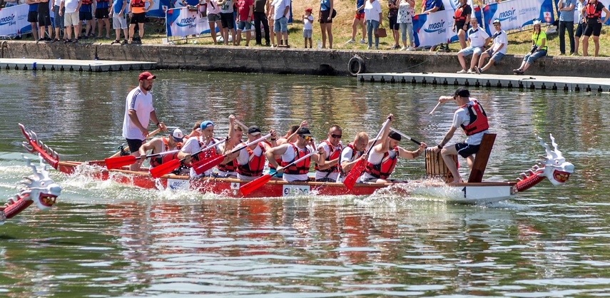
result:
<svg viewBox="0 0 610 298"><path fill-rule="evenodd" d="M127 140L131 155L140 156L140 147L148 135L148 122L153 120L157 128L168 131L166 125L159 121L155 108L153 108L153 80L156 79L148 71L138 76L138 87L127 94L125 103L125 116L123 117L123 138ZM131 170L137 170L139 165L133 164Z"/></svg>

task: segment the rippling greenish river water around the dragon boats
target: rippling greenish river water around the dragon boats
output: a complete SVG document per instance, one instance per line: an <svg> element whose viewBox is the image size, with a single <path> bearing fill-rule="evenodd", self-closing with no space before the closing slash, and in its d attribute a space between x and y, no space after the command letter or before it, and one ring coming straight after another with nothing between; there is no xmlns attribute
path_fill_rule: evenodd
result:
<svg viewBox="0 0 610 298"><path fill-rule="evenodd" d="M344 142L375 135L385 115L436 145L456 106L434 115L454 87L358 83L353 78L156 71L153 98L167 125L231 113L264 130L309 120ZM31 175L17 123L61 160L96 160L123 140L125 97L137 73L1 71L0 197ZM235 200L142 190L51 171L63 187L53 210L35 206L0 227L6 297L583 297L610 292L608 94L472 90L497 133L485 179L515 180L556 138L576 171L491 206L454 205L442 193L410 197ZM152 126L151 126L152 127ZM151 128L152 130L153 128ZM461 140L460 132L454 140ZM402 145L415 150L415 144ZM29 155L34 157L33 155ZM464 160L461 160L464 163ZM424 177L424 159L395 178ZM462 173L466 173L462 167ZM4 199L3 199L4 200Z"/></svg>

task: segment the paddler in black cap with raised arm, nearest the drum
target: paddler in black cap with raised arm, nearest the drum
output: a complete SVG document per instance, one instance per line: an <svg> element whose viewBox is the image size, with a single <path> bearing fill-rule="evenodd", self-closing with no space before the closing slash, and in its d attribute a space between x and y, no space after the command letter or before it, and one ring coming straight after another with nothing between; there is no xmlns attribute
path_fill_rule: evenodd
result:
<svg viewBox="0 0 610 298"><path fill-rule="evenodd" d="M390 119L390 123L385 125L380 140L378 140L377 145L372 148L370 155L367 158L365 173L360 176L362 182L392 182L392 180L388 178L390 178L390 175L394 171L398 158L415 159L422 155L422 152L427 147L426 143L422 143L417 150L407 151L398 146L402 137L395 131L390 132L390 125L394 120L394 115L390 114L387 118Z"/></svg>

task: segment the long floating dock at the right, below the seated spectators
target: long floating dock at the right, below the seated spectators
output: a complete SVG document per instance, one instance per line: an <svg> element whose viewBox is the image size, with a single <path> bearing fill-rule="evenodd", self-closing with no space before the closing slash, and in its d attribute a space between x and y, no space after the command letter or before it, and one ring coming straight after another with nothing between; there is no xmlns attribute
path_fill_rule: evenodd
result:
<svg viewBox="0 0 610 298"><path fill-rule="evenodd" d="M607 78L570 76L494 75L471 73L362 73L360 83L412 83L422 85L610 92Z"/></svg>

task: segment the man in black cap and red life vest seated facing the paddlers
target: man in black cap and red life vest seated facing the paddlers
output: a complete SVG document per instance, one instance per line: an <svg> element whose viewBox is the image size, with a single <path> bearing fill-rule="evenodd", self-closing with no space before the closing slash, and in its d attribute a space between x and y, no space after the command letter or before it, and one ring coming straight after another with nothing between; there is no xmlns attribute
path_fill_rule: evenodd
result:
<svg viewBox="0 0 610 298"><path fill-rule="evenodd" d="M476 99L470 98L470 91L467 88L457 88L454 96L439 97L439 103L446 103L447 101L454 101L459 108L453 113L451 128L444 135L439 145L434 148L434 152L440 151L444 164L447 165L447 168L454 177L454 180L449 183L462 183L462 177L459 175L451 155L462 155L463 158L467 159L468 167L472 168L474 163L473 154L479 151L483 134L488 132L489 122L487 121L487 113L485 113L483 106ZM453 138L455 130L459 127L462 127L464 133L468 136L466 141L445 146Z"/></svg>

